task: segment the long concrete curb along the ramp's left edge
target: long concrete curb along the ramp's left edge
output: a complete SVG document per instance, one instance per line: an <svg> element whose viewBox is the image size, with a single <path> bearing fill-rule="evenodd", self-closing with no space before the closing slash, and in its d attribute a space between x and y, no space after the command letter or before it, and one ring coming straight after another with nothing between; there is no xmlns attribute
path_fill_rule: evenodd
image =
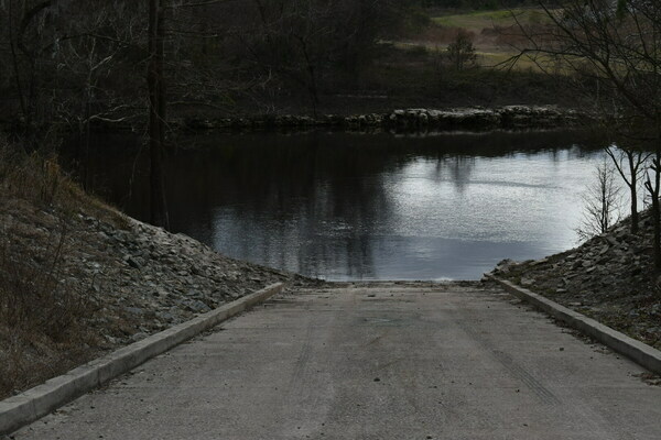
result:
<svg viewBox="0 0 661 440"><path fill-rule="evenodd" d="M0 400L0 436L37 420L120 374L269 299L282 292L283 287L282 283L270 285L189 321L122 346L17 396Z"/></svg>

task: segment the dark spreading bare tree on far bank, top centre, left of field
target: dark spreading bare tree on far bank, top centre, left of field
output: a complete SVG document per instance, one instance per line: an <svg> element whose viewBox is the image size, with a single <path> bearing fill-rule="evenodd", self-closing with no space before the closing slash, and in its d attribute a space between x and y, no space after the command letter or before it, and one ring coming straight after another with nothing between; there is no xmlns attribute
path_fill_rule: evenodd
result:
<svg viewBox="0 0 661 440"><path fill-rule="evenodd" d="M249 0L226 7L227 46L242 75L269 90L304 94L313 112L324 88L359 81L387 31L408 16L407 0Z"/></svg>

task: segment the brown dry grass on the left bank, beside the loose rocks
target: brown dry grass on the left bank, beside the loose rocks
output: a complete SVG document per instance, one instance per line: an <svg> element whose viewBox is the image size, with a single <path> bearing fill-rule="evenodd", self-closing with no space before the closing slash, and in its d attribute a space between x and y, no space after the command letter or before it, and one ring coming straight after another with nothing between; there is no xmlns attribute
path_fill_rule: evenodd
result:
<svg viewBox="0 0 661 440"><path fill-rule="evenodd" d="M0 140L0 397L93 354L96 337L86 323L95 307L67 285L63 266L74 245L74 216L101 210L108 217L56 157Z"/></svg>

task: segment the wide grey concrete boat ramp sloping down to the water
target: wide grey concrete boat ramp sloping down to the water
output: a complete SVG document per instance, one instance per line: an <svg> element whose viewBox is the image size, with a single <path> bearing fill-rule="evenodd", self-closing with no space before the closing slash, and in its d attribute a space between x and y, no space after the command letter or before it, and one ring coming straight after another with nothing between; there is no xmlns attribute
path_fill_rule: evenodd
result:
<svg viewBox="0 0 661 440"><path fill-rule="evenodd" d="M15 439L661 439L638 365L495 287L279 296Z"/></svg>

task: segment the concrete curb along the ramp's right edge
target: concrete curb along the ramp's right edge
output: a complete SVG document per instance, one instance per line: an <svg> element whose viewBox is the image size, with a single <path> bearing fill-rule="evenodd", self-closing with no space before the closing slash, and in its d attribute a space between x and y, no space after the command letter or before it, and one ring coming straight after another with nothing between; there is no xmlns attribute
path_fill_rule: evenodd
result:
<svg viewBox="0 0 661 440"><path fill-rule="evenodd" d="M532 293L523 287L519 287L511 282L500 279L489 274L486 276L500 284L507 292L516 297L530 302L553 318L556 318L570 327L596 339L604 345L613 349L619 354L629 358L631 361L646 367L647 370L661 374L661 351L654 349L653 346L650 346L633 338L629 338L625 333L614 330L608 326L604 326L603 323L588 318L583 314L561 306L549 298Z"/></svg>

